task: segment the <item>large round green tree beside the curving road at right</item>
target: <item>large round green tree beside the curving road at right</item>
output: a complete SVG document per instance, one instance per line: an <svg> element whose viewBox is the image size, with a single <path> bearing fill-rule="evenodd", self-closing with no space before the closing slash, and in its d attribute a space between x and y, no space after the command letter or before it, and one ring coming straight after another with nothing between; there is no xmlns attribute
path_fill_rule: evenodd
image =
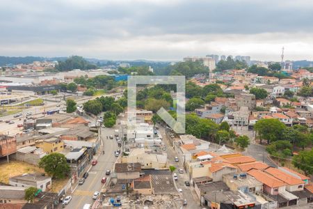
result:
<svg viewBox="0 0 313 209"><path fill-rule="evenodd" d="M271 141L277 141L281 139L282 133L285 129L284 123L278 121L275 118L260 119L255 123L255 130L262 144L262 139L266 139L267 143L270 144Z"/></svg>

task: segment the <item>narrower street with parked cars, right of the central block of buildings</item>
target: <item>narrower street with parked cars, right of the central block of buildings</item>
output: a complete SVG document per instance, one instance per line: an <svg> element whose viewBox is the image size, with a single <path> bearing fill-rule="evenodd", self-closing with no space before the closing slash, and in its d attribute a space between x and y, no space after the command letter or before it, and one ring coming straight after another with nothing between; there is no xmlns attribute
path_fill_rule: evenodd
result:
<svg viewBox="0 0 313 209"><path fill-rule="evenodd" d="M161 125L160 125L161 126ZM175 181L177 189L182 189L182 200L186 199L187 206L186 208L200 208L200 203L197 203L195 199L193 198L193 194L195 192L192 190L191 187L187 187L185 185L185 181L189 180L188 173L184 171L184 173L179 173L178 169L183 169L183 162L175 162L175 156L177 156L177 153L175 150L170 146L170 143L168 141L168 137L166 136L165 129L163 127L160 127L159 131L161 132L161 135L163 137L163 143L166 146L166 153L168 154L168 164L176 167L176 170L174 173L177 173L178 180ZM179 208L182 206L183 201L177 202Z"/></svg>

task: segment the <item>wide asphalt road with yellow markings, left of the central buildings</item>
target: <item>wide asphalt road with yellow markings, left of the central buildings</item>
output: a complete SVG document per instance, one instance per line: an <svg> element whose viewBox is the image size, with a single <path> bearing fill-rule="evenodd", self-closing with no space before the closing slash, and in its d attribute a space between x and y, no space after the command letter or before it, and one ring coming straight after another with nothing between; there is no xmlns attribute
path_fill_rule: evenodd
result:
<svg viewBox="0 0 313 209"><path fill-rule="evenodd" d="M91 167L89 171L89 176L86 178L83 185L78 185L74 190L72 195L72 201L65 208L83 208L87 203L93 204L94 200L92 198L94 192L99 192L103 185L101 179L107 177L105 175L106 170L111 170L113 164L115 163L116 157L114 156L114 151L118 150L118 144L115 139L106 139L106 136L114 135L113 128L102 128L101 138L103 142L102 148L104 148L105 154L102 151L97 159L98 163ZM109 180L106 181L108 183Z"/></svg>

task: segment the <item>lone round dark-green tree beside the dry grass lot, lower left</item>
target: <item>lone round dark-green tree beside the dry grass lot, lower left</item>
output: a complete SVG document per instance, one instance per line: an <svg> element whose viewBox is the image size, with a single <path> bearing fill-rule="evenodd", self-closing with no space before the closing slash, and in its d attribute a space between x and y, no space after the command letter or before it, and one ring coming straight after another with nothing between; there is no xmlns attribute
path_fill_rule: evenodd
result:
<svg viewBox="0 0 313 209"><path fill-rule="evenodd" d="M66 158L61 153L51 153L40 159L39 167L45 169L45 172L52 178L62 179L70 173L70 167Z"/></svg>

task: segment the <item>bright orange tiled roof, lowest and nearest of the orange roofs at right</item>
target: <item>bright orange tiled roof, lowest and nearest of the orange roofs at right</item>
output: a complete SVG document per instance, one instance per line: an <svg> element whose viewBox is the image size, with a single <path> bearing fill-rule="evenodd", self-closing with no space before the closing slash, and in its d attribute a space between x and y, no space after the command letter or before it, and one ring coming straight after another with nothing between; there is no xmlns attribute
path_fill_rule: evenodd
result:
<svg viewBox="0 0 313 209"><path fill-rule="evenodd" d="M252 169L250 171L247 172L249 175L253 176L254 178L256 178L257 180L259 180L260 182L264 183L264 185L267 185L268 187L282 187L284 185L286 185L284 182L282 182L281 180L271 176L268 173L265 173L263 171L259 171L256 169Z"/></svg>

